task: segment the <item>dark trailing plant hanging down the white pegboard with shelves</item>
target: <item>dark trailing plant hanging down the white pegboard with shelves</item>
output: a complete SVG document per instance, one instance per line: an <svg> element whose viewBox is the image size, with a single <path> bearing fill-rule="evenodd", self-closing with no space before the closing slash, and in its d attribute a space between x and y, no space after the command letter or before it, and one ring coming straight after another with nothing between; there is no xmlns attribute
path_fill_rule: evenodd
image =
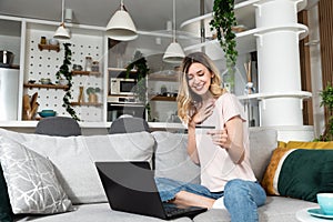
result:
<svg viewBox="0 0 333 222"><path fill-rule="evenodd" d="M72 108L70 99L72 98L71 88L72 88L72 72L70 71L70 64L72 59L72 51L70 49L71 43L63 43L64 47L64 59L63 63L61 64L59 71L56 73L57 80L65 79L68 80L68 89L63 95L63 103L62 107L65 111L74 119L80 121L79 117L75 113L75 110Z"/></svg>

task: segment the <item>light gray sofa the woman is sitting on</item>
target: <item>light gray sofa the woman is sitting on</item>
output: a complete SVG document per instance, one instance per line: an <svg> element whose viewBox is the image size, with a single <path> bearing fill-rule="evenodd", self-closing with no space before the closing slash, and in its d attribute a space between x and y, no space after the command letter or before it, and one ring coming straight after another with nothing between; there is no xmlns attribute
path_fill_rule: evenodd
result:
<svg viewBox="0 0 333 222"><path fill-rule="evenodd" d="M276 138L276 131L271 129L251 129L250 131L251 163L258 180L262 179L272 151L278 145ZM6 163L2 162L4 159L1 150L4 150L7 147L10 147L9 150L14 150L13 148L18 145L20 149L32 150L50 160L54 167L57 179L67 194L68 200L71 201L72 208L68 209L70 211L64 213L36 214L22 211L22 213L16 214L16 221L161 221L157 218L111 210L94 167L95 161L145 160L154 165L157 176L167 176L191 182L200 181L200 169L193 164L186 155L186 135L181 133L155 131L152 133L135 132L127 134L58 138L17 133L0 129L0 160L2 168L6 167ZM3 169L3 171L6 175L6 169ZM11 188L11 184L8 185ZM10 198L13 199L14 196ZM10 201L12 203L12 200ZM144 200L142 200L142 204L144 204ZM266 204L259 209L260 221L297 221L295 213L299 210L316 205L317 204L312 202L291 198L269 196ZM189 218L180 218L174 221L192 220ZM193 221L226 222L230 221L230 218L225 210L209 210L196 215Z"/></svg>

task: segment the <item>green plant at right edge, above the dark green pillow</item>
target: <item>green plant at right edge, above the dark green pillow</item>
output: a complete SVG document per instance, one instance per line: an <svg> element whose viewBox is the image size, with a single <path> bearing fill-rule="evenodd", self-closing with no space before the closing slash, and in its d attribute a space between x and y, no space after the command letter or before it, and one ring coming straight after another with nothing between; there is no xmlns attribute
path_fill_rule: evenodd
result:
<svg viewBox="0 0 333 222"><path fill-rule="evenodd" d="M324 133L320 137L321 141L333 141L333 85L329 83L326 88L320 92L322 98L321 107L327 110L329 121Z"/></svg>

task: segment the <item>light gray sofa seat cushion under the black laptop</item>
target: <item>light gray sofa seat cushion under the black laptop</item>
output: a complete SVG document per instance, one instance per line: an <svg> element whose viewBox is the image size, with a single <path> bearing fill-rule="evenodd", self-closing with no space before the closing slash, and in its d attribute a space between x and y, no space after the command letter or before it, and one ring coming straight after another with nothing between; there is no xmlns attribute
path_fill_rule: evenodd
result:
<svg viewBox="0 0 333 222"><path fill-rule="evenodd" d="M17 222L34 221L34 222L158 222L163 221L158 218L144 216L133 213L113 211L109 203L80 204L75 205L77 210L70 213L46 215L46 216L17 216ZM191 222L189 218L180 218L171 221Z"/></svg>

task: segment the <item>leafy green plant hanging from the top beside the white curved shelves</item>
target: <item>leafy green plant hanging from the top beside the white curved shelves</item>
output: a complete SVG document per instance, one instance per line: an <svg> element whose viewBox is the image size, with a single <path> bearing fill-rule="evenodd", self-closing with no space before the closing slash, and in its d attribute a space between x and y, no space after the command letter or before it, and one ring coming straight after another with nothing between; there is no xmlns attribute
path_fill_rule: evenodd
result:
<svg viewBox="0 0 333 222"><path fill-rule="evenodd" d="M211 30L216 31L216 38L224 51L226 69L234 72L238 60L235 33L232 28L236 26L234 16L234 0L214 0L213 19L210 21Z"/></svg>

